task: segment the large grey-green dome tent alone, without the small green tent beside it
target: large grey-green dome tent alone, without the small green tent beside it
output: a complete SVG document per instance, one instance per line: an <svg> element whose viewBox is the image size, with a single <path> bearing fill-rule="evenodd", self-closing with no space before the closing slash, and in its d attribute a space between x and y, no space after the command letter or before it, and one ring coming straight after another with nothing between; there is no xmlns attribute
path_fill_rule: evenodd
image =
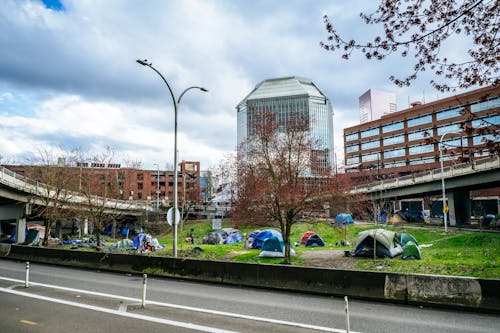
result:
<svg viewBox="0 0 500 333"><path fill-rule="evenodd" d="M374 242L374 240L376 242ZM374 244L375 243L375 244ZM373 257L374 248L378 258L393 258L403 252L399 240L394 231L385 229L370 229L358 234L354 256Z"/></svg>

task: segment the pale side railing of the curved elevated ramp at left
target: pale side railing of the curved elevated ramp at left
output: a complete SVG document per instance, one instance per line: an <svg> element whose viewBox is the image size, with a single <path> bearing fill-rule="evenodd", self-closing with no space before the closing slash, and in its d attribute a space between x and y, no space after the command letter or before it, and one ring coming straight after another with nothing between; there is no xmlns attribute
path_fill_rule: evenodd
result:
<svg viewBox="0 0 500 333"><path fill-rule="evenodd" d="M5 167L0 167L0 184L12 189L32 194L39 197L49 197L54 194L56 188L13 172ZM64 190L65 198L69 202L77 204L103 205L106 208L133 211L155 211L153 207L145 203L137 203L129 200L118 200L103 198L96 195L86 196L80 192Z"/></svg>

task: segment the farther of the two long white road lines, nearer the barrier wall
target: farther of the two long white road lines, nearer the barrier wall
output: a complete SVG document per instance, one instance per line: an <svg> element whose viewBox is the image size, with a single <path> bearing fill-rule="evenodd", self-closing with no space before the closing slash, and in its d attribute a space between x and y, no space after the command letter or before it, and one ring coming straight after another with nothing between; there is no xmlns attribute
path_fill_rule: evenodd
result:
<svg viewBox="0 0 500 333"><path fill-rule="evenodd" d="M11 282L16 282L16 283L24 283L24 280L18 280L18 279L6 278L6 277L0 277L0 280L6 280L6 281L11 281ZM53 288L53 289L59 289L59 290L65 290L65 291L71 291L71 292L85 293L85 294L95 295L95 296L101 296L101 297L109 297L109 298L121 299L121 300L129 301L129 302L134 302L134 303L140 303L141 302L141 299L139 299L139 298L126 297L126 296L120 296L120 295L113 295L113 294L107 294L107 293L100 293L100 292L95 292L95 291L87 291L87 290L81 290L81 289L74 289L74 288L68 288L68 287L60 287L60 286L54 286L54 285L43 284L43 283L38 283L38 282L31 282L30 281L30 285L40 286L40 287L46 287L46 288ZM178 305L178 304L172 304L172 303L163 303L163 302L149 301L148 300L147 304L153 304L153 305L158 305L158 306L170 307L170 308L175 308L175 309L182 309L182 310L187 310L187 311L208 313L208 314L219 315L219 316L226 316L226 317L233 317L233 318L240 318L240 319L255 320L255 321L272 323L272 324L278 324L278 325L301 327L301 328L305 328L305 329L311 329L311 330L317 330L317 331L324 331L324 332L334 332L334 333L345 333L346 332L346 330L344 330L344 329L337 329L337 328L331 328L331 327L325 327L325 326L317 326L317 325L308 325L308 324L296 323L296 322L290 322L290 321L284 321L284 320L279 320L279 319L270 319L270 318L256 317L256 316L250 316L250 315L244 315L244 314L238 314L238 313L231 313L231 312L224 312L224 311L203 309L203 308L195 308L195 307L190 307L190 306L185 306L185 305ZM349 332L352 332L352 333L361 333L361 332L357 332L357 331L353 331L353 330L350 330Z"/></svg>

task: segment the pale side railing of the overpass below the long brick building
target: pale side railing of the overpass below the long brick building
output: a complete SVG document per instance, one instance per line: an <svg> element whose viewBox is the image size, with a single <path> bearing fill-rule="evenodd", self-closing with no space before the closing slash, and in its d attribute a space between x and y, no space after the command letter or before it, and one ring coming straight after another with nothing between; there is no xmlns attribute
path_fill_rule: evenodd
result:
<svg viewBox="0 0 500 333"><path fill-rule="evenodd" d="M460 163L445 167L443 168L443 175L445 178L450 178L497 168L500 168L500 156L493 156L474 160L472 163ZM368 193L438 180L441 180L440 168L399 178L384 179L376 183L354 186L351 193Z"/></svg>

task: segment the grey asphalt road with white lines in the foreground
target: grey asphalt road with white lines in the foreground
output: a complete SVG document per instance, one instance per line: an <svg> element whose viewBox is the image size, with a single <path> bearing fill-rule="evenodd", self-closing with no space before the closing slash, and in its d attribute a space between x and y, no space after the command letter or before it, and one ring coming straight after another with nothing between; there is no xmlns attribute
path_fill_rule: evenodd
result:
<svg viewBox="0 0 500 333"><path fill-rule="evenodd" d="M342 298L0 260L0 332L342 332ZM43 285L38 285L38 284ZM67 288L67 289L61 289ZM88 292L93 292L89 294ZM110 296L114 295L114 296ZM349 300L352 332L498 332L500 316Z"/></svg>

